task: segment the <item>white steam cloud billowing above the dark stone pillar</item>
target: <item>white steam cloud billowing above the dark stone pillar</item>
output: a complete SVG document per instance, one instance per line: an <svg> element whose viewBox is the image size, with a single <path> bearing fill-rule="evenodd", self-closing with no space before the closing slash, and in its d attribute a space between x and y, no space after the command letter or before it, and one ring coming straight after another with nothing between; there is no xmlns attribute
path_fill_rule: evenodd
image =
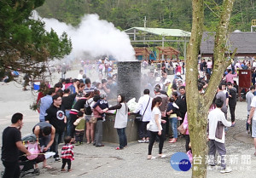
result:
<svg viewBox="0 0 256 178"><path fill-rule="evenodd" d="M59 36L62 32L67 32L73 43L73 51L68 58L87 60L85 54L89 54L93 58L112 55L119 61L135 60L135 52L128 35L115 28L113 23L100 20L97 14L84 15L76 28L55 19L42 19L34 12L33 19L38 18L45 22L46 31L52 28Z"/></svg>

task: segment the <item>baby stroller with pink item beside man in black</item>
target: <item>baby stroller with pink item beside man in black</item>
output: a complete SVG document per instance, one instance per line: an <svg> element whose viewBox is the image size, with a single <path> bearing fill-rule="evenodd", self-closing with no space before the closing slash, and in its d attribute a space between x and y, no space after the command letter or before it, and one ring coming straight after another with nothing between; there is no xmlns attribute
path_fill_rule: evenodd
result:
<svg viewBox="0 0 256 178"><path fill-rule="evenodd" d="M45 158L44 154L38 154L40 153L40 150L38 150L38 139L36 135L27 135L23 137L21 141L23 145L26 146L26 149L32 153L32 155L26 157L24 152L20 152L20 177L27 174L40 175L39 169L35 169L34 164L43 162Z"/></svg>

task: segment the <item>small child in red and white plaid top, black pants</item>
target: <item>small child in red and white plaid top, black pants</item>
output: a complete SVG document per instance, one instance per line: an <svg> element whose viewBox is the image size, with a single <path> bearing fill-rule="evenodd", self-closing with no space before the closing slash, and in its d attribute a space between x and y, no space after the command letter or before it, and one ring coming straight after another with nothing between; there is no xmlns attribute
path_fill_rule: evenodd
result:
<svg viewBox="0 0 256 178"><path fill-rule="evenodd" d="M61 158L62 158L62 166L61 171L65 171L65 166L67 164L67 171L71 171L71 161L73 158L73 145L71 144L71 136L66 136L65 145L61 148Z"/></svg>

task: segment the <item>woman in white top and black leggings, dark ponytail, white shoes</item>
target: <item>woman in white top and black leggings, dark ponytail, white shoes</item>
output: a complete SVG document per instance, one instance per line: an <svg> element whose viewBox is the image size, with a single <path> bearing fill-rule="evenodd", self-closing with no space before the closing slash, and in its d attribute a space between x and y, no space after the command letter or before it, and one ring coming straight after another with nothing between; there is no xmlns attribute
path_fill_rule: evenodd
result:
<svg viewBox="0 0 256 178"><path fill-rule="evenodd" d="M161 112L160 107L162 104L162 98L160 96L157 96L152 101L151 106L151 119L150 122L147 125L147 129L150 131L150 139L148 144L148 159L154 159L155 157L152 157L152 148L154 145L154 141L156 139L156 136L159 135L160 141L159 141L159 156L160 158L166 158L166 155L162 153L163 146L164 146L164 135L162 133L162 126L161 126Z"/></svg>

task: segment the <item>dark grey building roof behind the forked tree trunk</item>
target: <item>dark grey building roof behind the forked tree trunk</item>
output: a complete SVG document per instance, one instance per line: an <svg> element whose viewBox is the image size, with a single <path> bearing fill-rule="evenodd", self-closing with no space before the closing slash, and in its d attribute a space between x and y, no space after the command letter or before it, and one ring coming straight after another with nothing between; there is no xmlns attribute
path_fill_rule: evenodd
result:
<svg viewBox="0 0 256 178"><path fill-rule="evenodd" d="M201 39L201 55L212 56L214 47L213 32L203 32ZM254 56L256 55L256 32L232 32L227 43L230 55L236 50L236 56ZM227 51L226 54L229 54Z"/></svg>

